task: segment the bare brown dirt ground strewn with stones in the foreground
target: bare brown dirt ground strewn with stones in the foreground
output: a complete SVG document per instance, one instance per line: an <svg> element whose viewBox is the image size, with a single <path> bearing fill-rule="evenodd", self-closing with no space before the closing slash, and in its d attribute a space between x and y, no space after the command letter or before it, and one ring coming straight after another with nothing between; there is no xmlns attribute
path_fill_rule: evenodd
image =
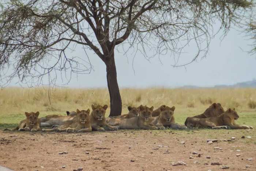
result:
<svg viewBox="0 0 256 171"><path fill-rule="evenodd" d="M255 171L255 133L255 129L121 130L82 134L0 131L0 165L29 171L70 171L80 167L85 171L215 171L223 166L228 166L227 170ZM241 136L251 138L242 139ZM236 137L236 140L218 141L212 145L206 142L207 139L230 140L231 137ZM59 154L64 151L68 153ZM190 156L193 159L189 159ZM207 159L206 156L211 158ZM250 158L251 161L248 160ZM172 162L178 161L187 165L172 166ZM212 166L212 162L221 165ZM246 165L249 167L246 168Z"/></svg>

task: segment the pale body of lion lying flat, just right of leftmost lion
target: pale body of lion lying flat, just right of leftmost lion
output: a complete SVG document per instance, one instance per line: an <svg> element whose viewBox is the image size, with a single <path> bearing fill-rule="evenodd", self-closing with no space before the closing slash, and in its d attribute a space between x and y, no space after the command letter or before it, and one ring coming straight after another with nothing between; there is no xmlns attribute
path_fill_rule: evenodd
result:
<svg viewBox="0 0 256 171"><path fill-rule="evenodd" d="M41 127L53 127L56 125L62 125L65 121L73 120L75 116L61 116L57 114L50 114L45 117L41 117Z"/></svg>

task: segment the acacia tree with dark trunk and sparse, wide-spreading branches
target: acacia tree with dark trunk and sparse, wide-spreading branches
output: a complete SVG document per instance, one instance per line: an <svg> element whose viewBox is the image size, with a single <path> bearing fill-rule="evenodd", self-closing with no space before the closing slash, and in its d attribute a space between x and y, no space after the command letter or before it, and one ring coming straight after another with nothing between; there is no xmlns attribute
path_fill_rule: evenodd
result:
<svg viewBox="0 0 256 171"><path fill-rule="evenodd" d="M184 47L195 44L193 62L207 54L213 23L220 22L219 30L227 32L251 6L250 0L5 0L0 76L26 82L56 71L84 73L90 69L83 62L86 55L65 54L74 45L83 46L106 65L110 116L116 116L122 109L114 58L118 46L128 43L128 49L139 47L150 57L179 57ZM6 72L10 66L14 70Z"/></svg>

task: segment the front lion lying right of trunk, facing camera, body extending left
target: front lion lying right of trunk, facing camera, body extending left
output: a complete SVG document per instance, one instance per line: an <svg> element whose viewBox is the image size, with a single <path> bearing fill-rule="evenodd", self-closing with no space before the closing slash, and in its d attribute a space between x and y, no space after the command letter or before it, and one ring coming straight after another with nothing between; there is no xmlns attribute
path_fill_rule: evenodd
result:
<svg viewBox="0 0 256 171"><path fill-rule="evenodd" d="M153 124L152 112L154 107L139 106L139 116L121 119L118 124L120 129L158 129Z"/></svg>

